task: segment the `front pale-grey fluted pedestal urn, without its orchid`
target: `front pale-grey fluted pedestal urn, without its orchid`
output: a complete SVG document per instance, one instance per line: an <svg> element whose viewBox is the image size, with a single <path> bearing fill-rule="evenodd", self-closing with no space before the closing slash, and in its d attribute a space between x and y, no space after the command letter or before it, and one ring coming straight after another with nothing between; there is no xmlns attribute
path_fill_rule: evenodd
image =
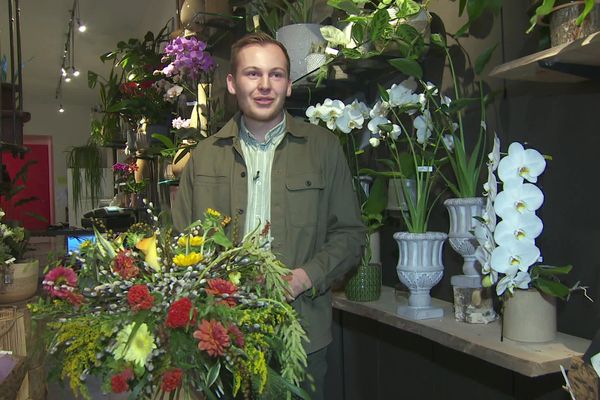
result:
<svg viewBox="0 0 600 400"><path fill-rule="evenodd" d="M400 281L410 290L408 306L398 307L400 316L411 319L443 317L443 309L431 306L429 291L444 275L442 249L447 237L442 232L394 234L400 251L396 271Z"/></svg>

